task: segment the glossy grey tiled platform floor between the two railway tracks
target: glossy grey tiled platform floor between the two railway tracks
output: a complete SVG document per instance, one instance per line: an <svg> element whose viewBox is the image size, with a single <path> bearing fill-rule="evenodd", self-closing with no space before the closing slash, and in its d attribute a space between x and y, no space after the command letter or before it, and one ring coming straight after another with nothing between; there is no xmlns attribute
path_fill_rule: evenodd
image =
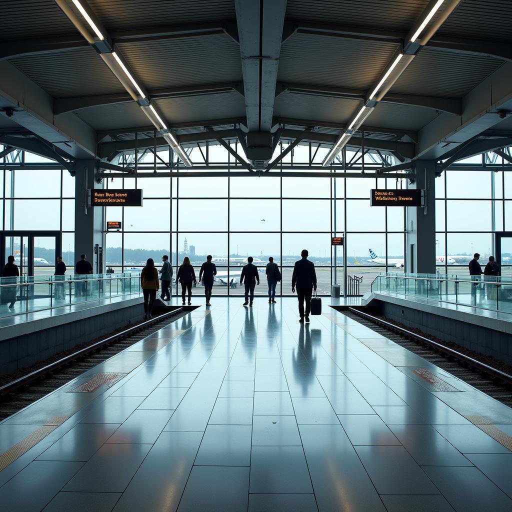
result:
<svg viewBox="0 0 512 512"><path fill-rule="evenodd" d="M304 325L292 298L217 298L88 372L126 374L111 388L0 423L2 453L50 425L0 509L512 510L512 452L481 428L511 435L512 410L323 302Z"/></svg>

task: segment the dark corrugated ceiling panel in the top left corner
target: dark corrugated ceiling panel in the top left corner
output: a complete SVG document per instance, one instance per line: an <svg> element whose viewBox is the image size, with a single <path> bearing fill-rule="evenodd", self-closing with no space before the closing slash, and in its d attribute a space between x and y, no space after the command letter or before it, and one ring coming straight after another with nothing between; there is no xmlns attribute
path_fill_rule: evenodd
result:
<svg viewBox="0 0 512 512"><path fill-rule="evenodd" d="M77 30L53 0L1 0L0 39L32 39Z"/></svg>

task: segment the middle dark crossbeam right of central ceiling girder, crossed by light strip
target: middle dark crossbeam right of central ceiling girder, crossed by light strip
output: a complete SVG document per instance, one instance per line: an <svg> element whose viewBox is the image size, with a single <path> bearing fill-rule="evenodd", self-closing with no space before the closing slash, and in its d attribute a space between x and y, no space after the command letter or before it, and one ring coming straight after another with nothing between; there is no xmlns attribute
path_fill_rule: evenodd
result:
<svg viewBox="0 0 512 512"><path fill-rule="evenodd" d="M309 83L286 83L278 82L276 96L283 92L296 94L308 94L314 96L327 96L331 98L346 98L364 100L367 91L362 89L346 89L341 87L324 86ZM417 94L387 93L380 101L384 103L395 103L401 105L423 106L441 112L461 114L461 101L456 98L443 98L439 96L423 96Z"/></svg>

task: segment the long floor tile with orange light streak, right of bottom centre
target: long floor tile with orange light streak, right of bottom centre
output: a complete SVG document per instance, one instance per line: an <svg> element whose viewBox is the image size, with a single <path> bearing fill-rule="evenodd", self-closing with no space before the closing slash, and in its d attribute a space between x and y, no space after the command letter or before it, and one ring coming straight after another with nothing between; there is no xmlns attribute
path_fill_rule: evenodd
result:
<svg viewBox="0 0 512 512"><path fill-rule="evenodd" d="M319 510L385 512L342 425L300 425Z"/></svg>

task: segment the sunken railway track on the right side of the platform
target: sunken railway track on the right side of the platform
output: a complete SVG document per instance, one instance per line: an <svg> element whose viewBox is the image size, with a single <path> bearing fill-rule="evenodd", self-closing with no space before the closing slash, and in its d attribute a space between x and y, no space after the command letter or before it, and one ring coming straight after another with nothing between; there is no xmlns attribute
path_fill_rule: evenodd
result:
<svg viewBox="0 0 512 512"><path fill-rule="evenodd" d="M512 407L511 375L457 350L445 347L441 343L429 339L426 335L414 333L364 311L349 308L343 313L508 407Z"/></svg>

